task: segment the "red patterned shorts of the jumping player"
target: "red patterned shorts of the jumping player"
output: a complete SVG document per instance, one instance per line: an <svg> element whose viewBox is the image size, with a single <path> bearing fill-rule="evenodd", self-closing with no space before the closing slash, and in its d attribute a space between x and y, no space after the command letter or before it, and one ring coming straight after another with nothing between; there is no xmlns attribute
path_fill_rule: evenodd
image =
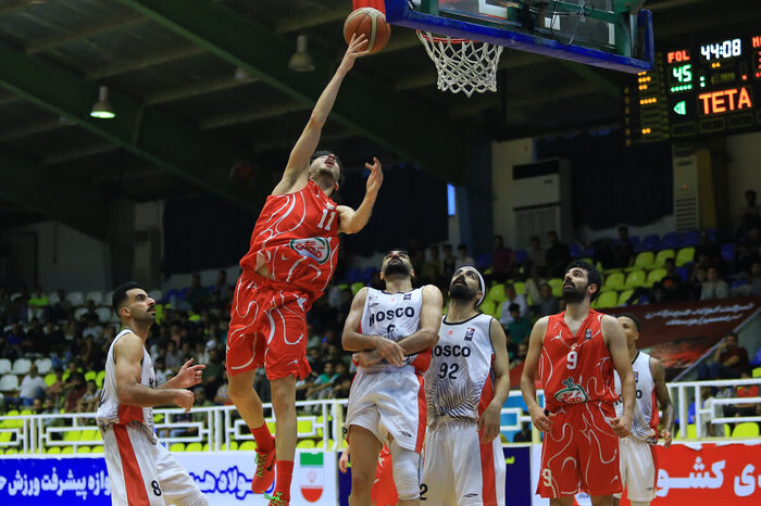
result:
<svg viewBox="0 0 761 506"><path fill-rule="evenodd" d="M227 375L264 367L271 380L312 370L307 362L308 292L244 271L235 287L227 333Z"/></svg>

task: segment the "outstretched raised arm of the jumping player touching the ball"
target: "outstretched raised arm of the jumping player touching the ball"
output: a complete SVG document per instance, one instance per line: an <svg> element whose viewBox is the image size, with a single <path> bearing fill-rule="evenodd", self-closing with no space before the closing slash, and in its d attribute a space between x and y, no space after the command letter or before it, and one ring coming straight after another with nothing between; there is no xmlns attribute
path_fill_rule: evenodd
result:
<svg viewBox="0 0 761 506"><path fill-rule="evenodd" d="M312 115L301 132L301 137L299 137L299 140L296 141L296 146L294 146L294 149L290 152L288 165L286 165L286 169L283 173L283 179L280 179L280 182L278 182L275 189L272 191L273 195L288 193L292 191L295 187L303 187L307 185L307 179L309 177L309 159L317 148L323 126L327 121L327 116L330 114L333 104L336 102L338 89L340 88L346 74L354 65L354 60L357 56L361 56L366 53L364 50L366 47L367 40L363 35L351 38L349 48L344 54L344 60L341 60L341 63L338 65L338 68L336 68L336 73L333 75L333 78L317 99L317 103L312 110Z"/></svg>

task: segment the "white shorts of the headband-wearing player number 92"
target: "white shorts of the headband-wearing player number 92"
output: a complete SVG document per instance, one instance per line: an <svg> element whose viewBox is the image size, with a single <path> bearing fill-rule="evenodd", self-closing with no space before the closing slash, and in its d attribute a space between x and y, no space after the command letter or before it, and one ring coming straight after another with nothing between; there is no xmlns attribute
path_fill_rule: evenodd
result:
<svg viewBox="0 0 761 506"><path fill-rule="evenodd" d="M421 485L426 504L504 506L504 480L499 438L481 444L476 425L458 420L428 429Z"/></svg>

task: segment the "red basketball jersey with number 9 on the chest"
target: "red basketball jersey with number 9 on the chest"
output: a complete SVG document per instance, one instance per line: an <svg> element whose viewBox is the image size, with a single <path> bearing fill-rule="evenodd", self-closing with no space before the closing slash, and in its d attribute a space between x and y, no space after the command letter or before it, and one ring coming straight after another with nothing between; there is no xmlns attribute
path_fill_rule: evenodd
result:
<svg viewBox="0 0 761 506"><path fill-rule="evenodd" d="M592 401L615 402L613 359L602 339L602 316L589 309L576 336L565 325L565 313L549 317L539 358L548 409Z"/></svg>

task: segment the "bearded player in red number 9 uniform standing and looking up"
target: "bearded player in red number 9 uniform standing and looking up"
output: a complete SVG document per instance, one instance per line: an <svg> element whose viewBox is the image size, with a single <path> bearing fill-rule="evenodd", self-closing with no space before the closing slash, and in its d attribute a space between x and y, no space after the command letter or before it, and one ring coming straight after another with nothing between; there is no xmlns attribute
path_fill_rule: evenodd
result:
<svg viewBox="0 0 761 506"><path fill-rule="evenodd" d="M595 506L622 491L619 438L632 427L635 383L619 321L590 308L602 279L587 262L571 263L563 281L564 313L540 318L528 342L521 390L532 421L545 431L537 493L571 506L579 490ZM545 391L536 403L537 366ZM623 415L615 416L613 368L622 382Z"/></svg>

